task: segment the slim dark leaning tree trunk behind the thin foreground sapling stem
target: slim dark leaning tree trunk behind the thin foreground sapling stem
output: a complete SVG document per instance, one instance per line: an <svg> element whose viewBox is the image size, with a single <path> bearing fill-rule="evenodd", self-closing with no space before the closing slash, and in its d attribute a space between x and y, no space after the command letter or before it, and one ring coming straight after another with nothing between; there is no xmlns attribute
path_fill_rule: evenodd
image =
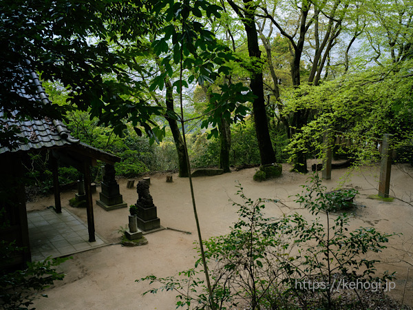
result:
<svg viewBox="0 0 413 310"><path fill-rule="evenodd" d="M169 79L165 80L165 87L167 90L166 105L167 110L174 112L173 110L173 87ZM188 165L187 165L187 152L185 152L184 141L182 140L182 135L180 133L178 122L176 119L171 118L168 114L165 115L166 120L171 128L173 141L175 142L176 152L178 153L178 169L179 176L181 178L187 178L189 176Z"/></svg>

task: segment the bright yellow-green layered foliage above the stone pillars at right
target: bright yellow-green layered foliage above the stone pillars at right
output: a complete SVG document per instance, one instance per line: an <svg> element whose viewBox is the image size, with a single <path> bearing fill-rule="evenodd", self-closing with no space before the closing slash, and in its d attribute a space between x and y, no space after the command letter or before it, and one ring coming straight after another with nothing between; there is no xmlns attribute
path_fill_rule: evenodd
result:
<svg viewBox="0 0 413 310"><path fill-rule="evenodd" d="M293 155L295 149L313 150L321 158L322 136L329 128L332 143L337 138L347 141L335 145L335 151L346 152L359 163L377 161L383 134L390 134L392 147L401 150L399 160L410 161L413 136L410 62L368 68L319 87L302 86L296 90L291 107L305 106L313 111L313 118L293 136L288 153ZM302 93L306 96L299 95ZM288 108L284 110L287 111Z"/></svg>

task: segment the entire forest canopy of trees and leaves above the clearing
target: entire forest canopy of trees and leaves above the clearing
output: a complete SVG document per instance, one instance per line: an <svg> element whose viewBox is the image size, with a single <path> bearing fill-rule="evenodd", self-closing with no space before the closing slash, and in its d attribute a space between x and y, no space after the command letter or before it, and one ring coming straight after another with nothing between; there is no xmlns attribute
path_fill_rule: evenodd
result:
<svg viewBox="0 0 413 310"><path fill-rule="evenodd" d="M74 123L78 110L120 138L163 138L176 147L180 176L188 175L180 123L190 134L206 132L212 149L202 156L219 158L200 165L225 171L239 157L242 122L253 125L259 158L250 162L289 158L299 172L320 155L326 130L338 153L361 161L374 158L383 134L407 154L412 4L0 1L1 110ZM34 92L27 70L58 100L19 96L22 87ZM15 130L0 123L2 145L14 142Z"/></svg>

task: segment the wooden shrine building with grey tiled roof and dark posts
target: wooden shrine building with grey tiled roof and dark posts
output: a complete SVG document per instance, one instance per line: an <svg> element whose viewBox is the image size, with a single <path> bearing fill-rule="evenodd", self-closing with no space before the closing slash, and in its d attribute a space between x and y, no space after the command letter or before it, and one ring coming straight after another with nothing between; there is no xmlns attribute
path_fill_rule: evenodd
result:
<svg viewBox="0 0 413 310"><path fill-rule="evenodd" d="M39 77L33 72L32 81L37 87L34 100L47 103L47 95L41 86ZM46 102L47 101L47 102ZM3 128L17 126L26 143L19 143L14 149L3 147L0 141L0 240L15 241L17 247L24 250L17 253L11 266L21 267L25 262L31 261L28 218L25 207L25 183L23 179L23 160L28 152L43 152L47 154L53 174L54 209L61 212L61 199L59 191L58 163L75 167L81 172L85 180L85 195L87 209L87 227L89 242L95 241L94 212L91 192L91 170L96 161L103 161L109 165L120 161L120 158L91 147L74 138L61 121L50 118L34 119L30 121L17 121L13 116L5 118L0 107L0 122ZM10 114L9 114L10 115ZM1 266L0 266L1 267Z"/></svg>

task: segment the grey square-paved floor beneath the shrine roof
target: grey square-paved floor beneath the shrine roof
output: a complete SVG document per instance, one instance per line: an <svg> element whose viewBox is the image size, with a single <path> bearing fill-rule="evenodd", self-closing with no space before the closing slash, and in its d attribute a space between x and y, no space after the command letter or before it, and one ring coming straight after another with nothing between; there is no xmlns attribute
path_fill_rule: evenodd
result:
<svg viewBox="0 0 413 310"><path fill-rule="evenodd" d="M95 234L96 241L88 242L87 224L65 208L57 214L54 209L28 213L32 261L75 254L105 245Z"/></svg>

